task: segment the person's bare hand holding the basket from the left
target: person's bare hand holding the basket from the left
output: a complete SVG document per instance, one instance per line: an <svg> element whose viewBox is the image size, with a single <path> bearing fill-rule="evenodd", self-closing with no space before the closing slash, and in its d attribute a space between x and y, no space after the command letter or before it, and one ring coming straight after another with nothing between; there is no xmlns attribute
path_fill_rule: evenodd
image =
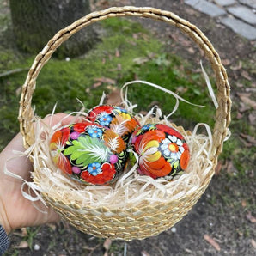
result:
<svg viewBox="0 0 256 256"><path fill-rule="evenodd" d="M52 117L52 125L56 125L60 121L62 125L69 124L72 118L63 119L65 116L64 113L55 114ZM50 116L44 120L49 124ZM17 134L0 153L0 224L7 234L13 229L59 220L58 214L52 210L52 207L46 208L47 213L42 213L34 207L31 201L23 197L21 193L22 180L3 173L7 160L16 156L14 150L25 151L21 133ZM13 174L21 176L24 180L32 181L30 172L33 170L33 166L26 156L15 157L8 162L7 167Z"/></svg>

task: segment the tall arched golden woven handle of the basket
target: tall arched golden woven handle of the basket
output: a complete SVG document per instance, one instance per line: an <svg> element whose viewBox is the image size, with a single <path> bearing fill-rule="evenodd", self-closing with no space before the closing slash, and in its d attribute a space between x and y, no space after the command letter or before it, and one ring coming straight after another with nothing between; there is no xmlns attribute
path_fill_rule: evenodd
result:
<svg viewBox="0 0 256 256"><path fill-rule="evenodd" d="M65 40L68 40L72 34L83 27L87 27L96 21L107 19L108 17L120 16L138 16L150 18L157 21L165 21L172 26L180 28L204 51L206 57L210 60L212 69L216 76L217 102L216 123L213 130L213 147L211 150L211 160L217 159L222 152L222 143L227 135L227 128L230 123L231 100L229 97L229 81L225 68L222 65L218 53L211 45L207 37L189 21L181 19L179 16L169 11L148 7L112 7L102 11L96 11L75 21L70 26L58 31L47 43L44 49L34 59L34 64L28 71L26 82L22 87L19 121L21 134L23 136L24 147L27 149L34 143L34 109L31 107L32 96L34 93L36 79L41 68L52 57L52 53Z"/></svg>

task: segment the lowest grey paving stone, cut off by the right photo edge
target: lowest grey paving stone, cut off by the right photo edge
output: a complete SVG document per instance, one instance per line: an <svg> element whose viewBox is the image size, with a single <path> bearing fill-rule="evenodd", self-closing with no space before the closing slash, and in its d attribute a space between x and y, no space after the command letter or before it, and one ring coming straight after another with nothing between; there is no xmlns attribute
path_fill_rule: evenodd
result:
<svg viewBox="0 0 256 256"><path fill-rule="evenodd" d="M235 18L222 18L222 24L230 27L235 33L247 38L248 40L256 40L256 28Z"/></svg>

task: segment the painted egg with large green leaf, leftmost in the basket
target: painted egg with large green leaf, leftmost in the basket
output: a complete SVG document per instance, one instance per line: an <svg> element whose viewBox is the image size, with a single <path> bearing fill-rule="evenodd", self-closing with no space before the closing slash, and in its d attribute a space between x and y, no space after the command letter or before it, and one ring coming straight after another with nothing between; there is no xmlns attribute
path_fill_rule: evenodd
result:
<svg viewBox="0 0 256 256"><path fill-rule="evenodd" d="M50 150L52 161L64 173L93 185L116 180L128 156L117 133L88 121L55 131Z"/></svg>

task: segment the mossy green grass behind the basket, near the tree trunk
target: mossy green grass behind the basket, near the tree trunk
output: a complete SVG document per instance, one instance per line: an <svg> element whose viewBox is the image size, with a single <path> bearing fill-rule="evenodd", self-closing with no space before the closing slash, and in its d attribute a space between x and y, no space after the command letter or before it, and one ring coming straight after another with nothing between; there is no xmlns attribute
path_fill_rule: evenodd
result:
<svg viewBox="0 0 256 256"><path fill-rule="evenodd" d="M155 39L149 31L140 24L125 19L107 19L101 21L106 30L101 41L82 58L73 58L69 62L51 58L40 71L37 88L34 92L33 105L35 113L45 116L52 113L57 102L57 112L77 111L81 106L76 99L82 101L85 107L97 105L103 91L109 91L107 83L99 88L92 88L96 78L107 77L116 81L121 87L125 82L139 79L155 82L173 90L179 87L187 88L180 96L186 100L207 105L207 92L202 86L201 76L183 74L180 66L188 66L182 59L169 55L164 51L162 42ZM57 50L58 51L58 50ZM119 54L116 54L116 52ZM22 55L15 50L0 48L0 73L7 70L29 68L34 56ZM137 58L146 58L143 64L137 64ZM192 76L191 76L192 75ZM0 96L0 116L2 122L0 132L0 149L19 130L17 114L19 108L20 89L25 82L27 71L3 76L0 78L2 94ZM88 90L89 88L89 90ZM88 91L88 92L86 92ZM145 86L131 87L131 101L140 102L137 112L149 110L152 101L158 101L164 113L168 114L174 107L174 97L156 89ZM141 101L143 99L143 102ZM198 121L205 122L214 111L204 107L204 115L198 107L180 103L180 109L174 115L177 120L183 120L187 125ZM180 118L182 116L182 118Z"/></svg>

